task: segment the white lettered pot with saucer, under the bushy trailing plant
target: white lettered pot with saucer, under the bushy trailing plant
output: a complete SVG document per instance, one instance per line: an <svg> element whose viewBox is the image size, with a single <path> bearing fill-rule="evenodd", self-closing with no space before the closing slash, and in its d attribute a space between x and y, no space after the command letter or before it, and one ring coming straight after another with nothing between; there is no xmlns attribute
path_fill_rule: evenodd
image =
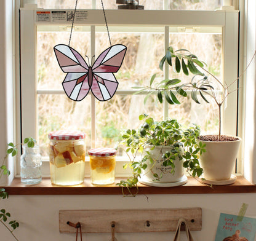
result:
<svg viewBox="0 0 256 241"><path fill-rule="evenodd" d="M183 160L174 160L174 173L170 173L172 167L164 167L164 165L162 165L162 154L170 151L171 149L172 146L156 146L153 150L150 148L145 149L145 151L150 152L151 156L156 160L156 162L151 164L148 160L148 167L146 170L143 170L141 175L141 183L149 184L150 186L180 186L186 183L187 178L184 175ZM156 179L153 176L153 173L157 173L158 176L161 176L162 173L162 178L159 181L153 181Z"/></svg>

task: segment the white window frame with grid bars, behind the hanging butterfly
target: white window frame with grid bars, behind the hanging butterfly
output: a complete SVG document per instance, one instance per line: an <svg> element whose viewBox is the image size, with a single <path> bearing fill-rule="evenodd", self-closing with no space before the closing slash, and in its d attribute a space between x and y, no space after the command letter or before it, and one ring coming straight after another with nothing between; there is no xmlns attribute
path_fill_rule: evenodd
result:
<svg viewBox="0 0 256 241"><path fill-rule="evenodd" d="M46 23L36 22L36 11L51 11L53 9L20 9L20 79L21 79L21 130L22 137L34 136L38 138L37 126L37 95L43 93L64 94L62 90L37 90L36 89L36 34L37 28ZM54 9L57 10L57 9ZM63 9L62 9L63 10ZM95 26L105 26L105 20L102 10L87 10L88 17L86 21L79 22L81 26L90 26L91 38L95 38ZM214 11L180 11L180 10L105 10L110 26L164 26L165 46L169 45L169 32L174 28L182 26L191 28L199 26L202 31L204 27L222 28L222 78L227 84L230 84L238 75L238 10L214 10ZM54 22L47 23L50 26L70 26L70 23ZM78 25L75 23L75 25ZM94 55L95 45L91 41L91 56ZM168 78L168 66L164 77ZM18 83L17 83L18 84ZM117 90L116 95L132 94L132 90ZM94 147L96 124L95 124L95 98L91 95L92 109L92 143ZM167 103L164 104L163 117L167 117ZM226 118L228 116L228 118ZM223 109L222 130L226 135L237 135L237 95L228 97L225 108ZM242 159L242 158L241 158ZM116 170L117 175L123 176L122 162ZM87 164L88 165L88 164ZM19 173L17 165L17 174ZM88 168L86 168L89 170ZM48 163L44 163L42 173L49 175ZM242 162L239 162L238 172L242 173ZM86 173L89 175L89 173Z"/></svg>

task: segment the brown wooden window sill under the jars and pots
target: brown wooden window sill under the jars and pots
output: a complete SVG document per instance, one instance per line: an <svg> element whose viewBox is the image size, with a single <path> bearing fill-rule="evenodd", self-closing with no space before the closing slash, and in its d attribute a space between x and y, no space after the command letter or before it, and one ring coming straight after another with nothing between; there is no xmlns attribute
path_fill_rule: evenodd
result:
<svg viewBox="0 0 256 241"><path fill-rule="evenodd" d="M118 178L117 182L121 180ZM122 195L122 189L116 184L95 186L86 178L83 184L76 186L55 186L50 183L50 178L43 178L36 185L20 183L20 178L15 178L10 186L5 187L10 195ZM135 191L135 190L134 190ZM127 193L126 188L124 192ZM220 193L256 193L256 185L238 176L235 183L225 186L207 186L195 178L188 177L188 183L183 186L171 188L156 188L138 185L138 194L220 194Z"/></svg>

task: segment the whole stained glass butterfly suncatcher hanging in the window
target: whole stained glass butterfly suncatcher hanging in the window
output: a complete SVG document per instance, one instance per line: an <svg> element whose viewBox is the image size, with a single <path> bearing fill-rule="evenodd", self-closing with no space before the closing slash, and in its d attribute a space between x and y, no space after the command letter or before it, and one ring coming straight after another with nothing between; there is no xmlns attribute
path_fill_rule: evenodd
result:
<svg viewBox="0 0 256 241"><path fill-rule="evenodd" d="M81 101L91 90L98 100L110 100L118 89L118 81L113 73L121 67L126 49L122 44L112 45L98 56L92 66L89 66L70 46L56 45L54 52L58 64L62 71L67 73L62 82L66 95L71 100Z"/></svg>

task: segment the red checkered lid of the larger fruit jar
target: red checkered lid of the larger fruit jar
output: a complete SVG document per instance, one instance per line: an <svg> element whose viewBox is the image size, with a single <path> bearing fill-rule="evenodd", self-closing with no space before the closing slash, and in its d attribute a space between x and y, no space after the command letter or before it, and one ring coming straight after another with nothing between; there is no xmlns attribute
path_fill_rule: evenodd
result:
<svg viewBox="0 0 256 241"><path fill-rule="evenodd" d="M68 141L84 139L86 134L79 130L55 130L54 132L50 132L48 137L50 140Z"/></svg>

